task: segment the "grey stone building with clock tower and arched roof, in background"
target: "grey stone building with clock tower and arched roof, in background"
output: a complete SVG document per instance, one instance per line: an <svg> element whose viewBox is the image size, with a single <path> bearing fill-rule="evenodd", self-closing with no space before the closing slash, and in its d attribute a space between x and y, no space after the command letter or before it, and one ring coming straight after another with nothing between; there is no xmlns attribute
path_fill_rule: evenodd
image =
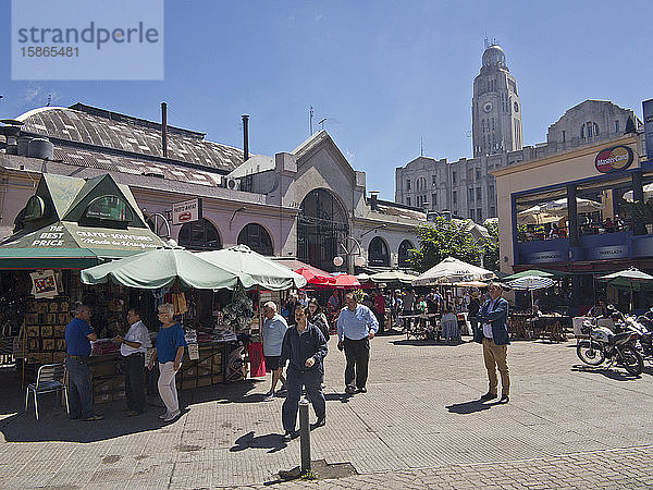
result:
<svg viewBox="0 0 653 490"><path fill-rule="evenodd" d="M523 146L517 82L504 51L496 44L486 47L482 63L473 82L475 157L449 162L420 156L396 168L396 203L482 222L498 216L494 170L642 128L632 110L606 100L586 100L549 128L545 143Z"/></svg>

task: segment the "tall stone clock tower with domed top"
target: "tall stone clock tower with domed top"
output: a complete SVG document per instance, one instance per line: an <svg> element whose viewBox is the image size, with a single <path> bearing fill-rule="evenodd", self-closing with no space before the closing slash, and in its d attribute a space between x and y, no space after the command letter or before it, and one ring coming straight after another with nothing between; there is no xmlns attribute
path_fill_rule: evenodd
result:
<svg viewBox="0 0 653 490"><path fill-rule="evenodd" d="M471 133L475 157L520 150L523 146L517 82L496 41L485 40L483 65L473 79Z"/></svg>

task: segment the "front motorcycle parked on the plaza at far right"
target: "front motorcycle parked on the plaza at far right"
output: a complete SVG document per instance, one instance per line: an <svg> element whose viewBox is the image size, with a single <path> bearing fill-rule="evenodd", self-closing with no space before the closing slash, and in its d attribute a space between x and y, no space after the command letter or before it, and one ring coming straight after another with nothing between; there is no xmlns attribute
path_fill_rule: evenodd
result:
<svg viewBox="0 0 653 490"><path fill-rule="evenodd" d="M638 334L626 331L613 333L607 327L597 327L596 319L586 320L580 329L587 334L587 340L581 340L576 346L576 355L580 360L590 366L600 366L609 362L607 367L616 362L632 376L639 376L644 369L642 355L634 347Z"/></svg>

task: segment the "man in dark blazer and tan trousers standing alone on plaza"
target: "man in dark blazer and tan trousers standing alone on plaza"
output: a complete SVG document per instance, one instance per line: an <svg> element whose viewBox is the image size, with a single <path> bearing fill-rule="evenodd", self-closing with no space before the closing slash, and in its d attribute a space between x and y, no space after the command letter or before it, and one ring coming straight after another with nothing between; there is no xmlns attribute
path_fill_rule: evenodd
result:
<svg viewBox="0 0 653 490"><path fill-rule="evenodd" d="M477 318L482 328L475 332L475 341L483 344L483 359L488 369L490 388L488 393L481 396L485 402L497 396L496 368L501 373L501 400L500 403L508 403L510 395L510 375L506 360L508 354L508 302L501 297L503 287L497 282L491 282L488 286L490 299L483 303Z"/></svg>

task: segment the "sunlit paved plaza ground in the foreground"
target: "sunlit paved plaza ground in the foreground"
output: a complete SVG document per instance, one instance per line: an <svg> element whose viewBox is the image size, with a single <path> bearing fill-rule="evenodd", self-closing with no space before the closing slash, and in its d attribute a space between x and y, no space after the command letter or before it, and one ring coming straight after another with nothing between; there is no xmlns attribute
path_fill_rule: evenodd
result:
<svg viewBox="0 0 653 490"><path fill-rule="evenodd" d="M42 404L22 413L4 373L0 400L2 488L651 488L653 369L587 369L575 341L514 342L510 402L481 404L481 347L377 338L368 393L344 395L344 355L330 341L326 426L312 460L350 463L356 475L272 483L299 464L282 443L283 399L263 402L264 380L182 392L187 412L160 422L149 406L99 422L69 421ZM15 385L15 380L14 380ZM152 399L153 400L153 399ZM311 409L311 421L315 414Z"/></svg>

